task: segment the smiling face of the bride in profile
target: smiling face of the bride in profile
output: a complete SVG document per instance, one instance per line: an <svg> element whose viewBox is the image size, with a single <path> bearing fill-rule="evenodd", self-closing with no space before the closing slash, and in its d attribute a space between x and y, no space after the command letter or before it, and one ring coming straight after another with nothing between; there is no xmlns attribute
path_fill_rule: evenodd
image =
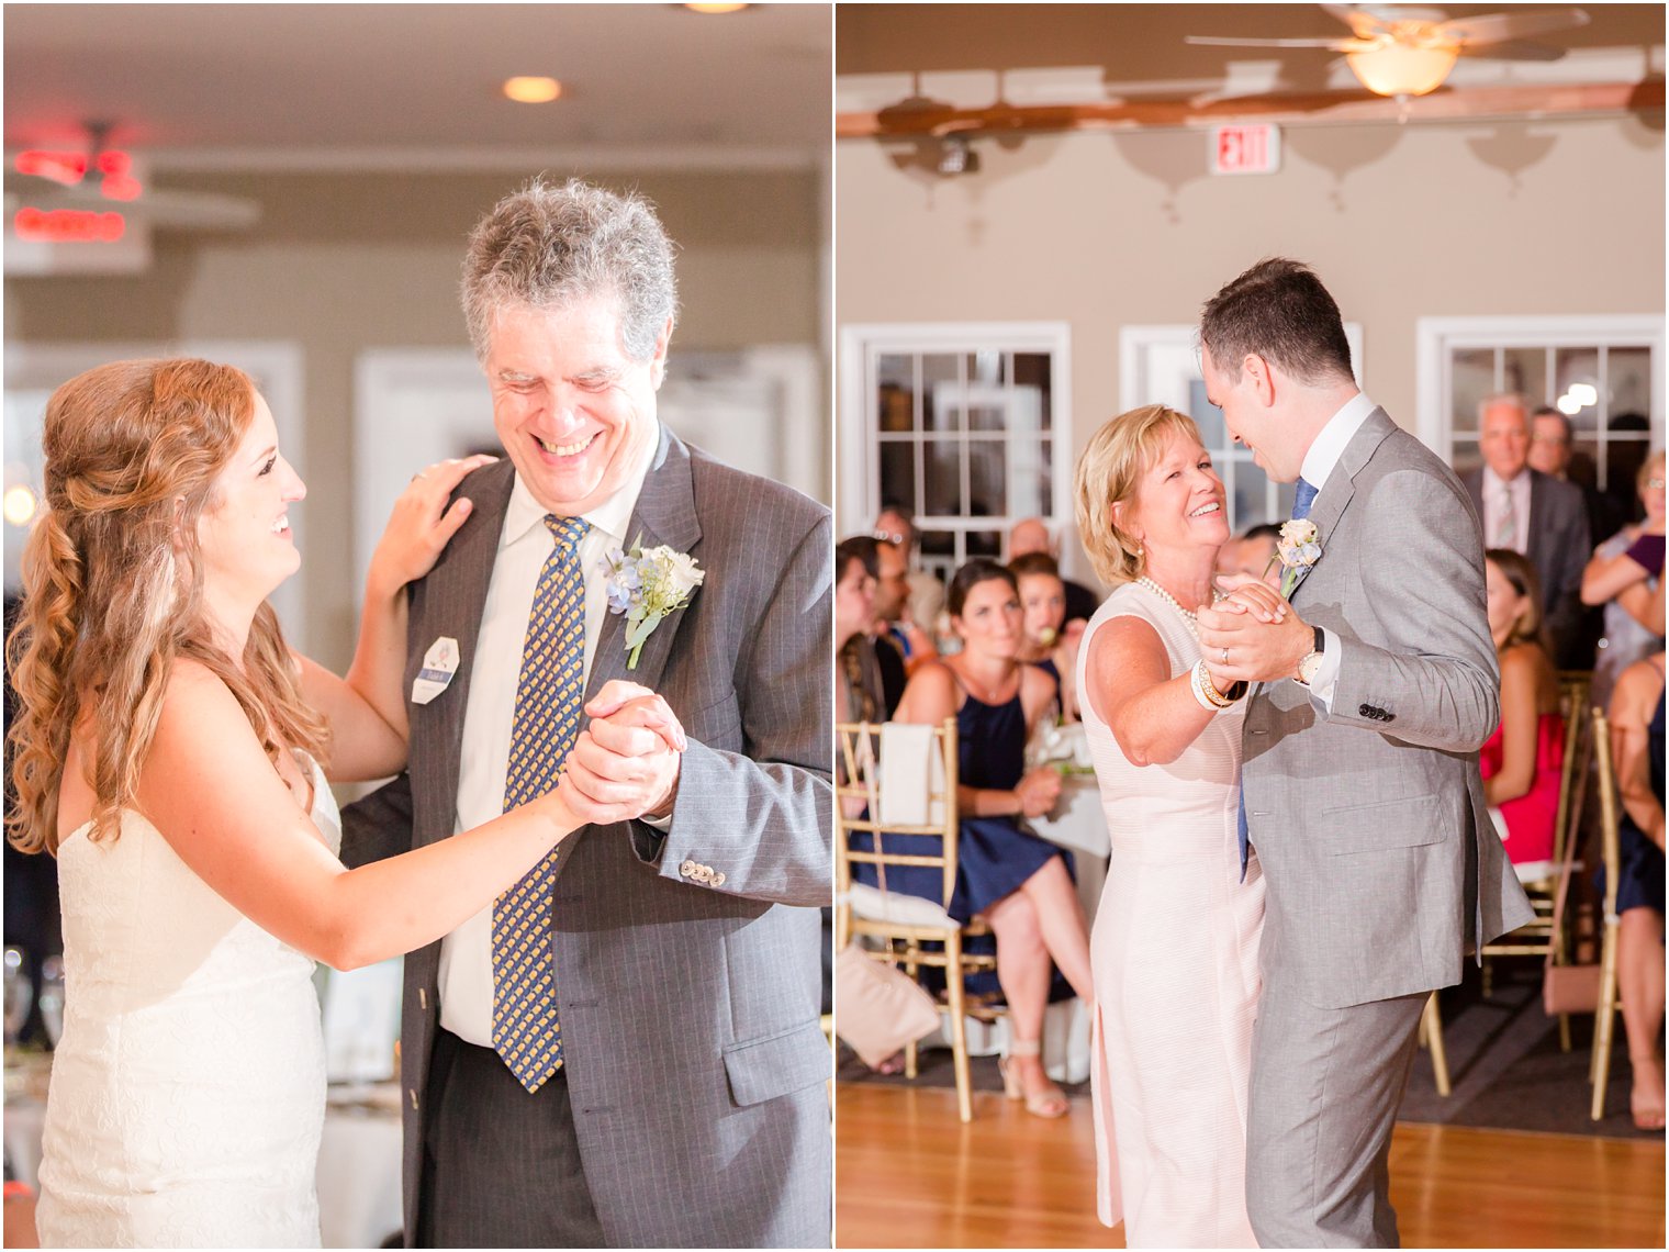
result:
<svg viewBox="0 0 1669 1252"><path fill-rule="evenodd" d="M204 596L217 614L235 619L300 569L289 507L305 494L279 456L279 427L257 394L249 429L215 477L215 504L197 517Z"/></svg>

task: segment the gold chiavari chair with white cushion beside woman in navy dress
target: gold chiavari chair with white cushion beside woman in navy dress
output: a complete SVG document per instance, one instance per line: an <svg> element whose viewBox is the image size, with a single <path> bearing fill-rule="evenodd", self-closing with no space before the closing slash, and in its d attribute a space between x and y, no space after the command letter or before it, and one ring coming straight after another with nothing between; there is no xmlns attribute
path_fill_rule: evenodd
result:
<svg viewBox="0 0 1669 1252"><path fill-rule="evenodd" d="M871 721L846 721L834 726L838 743L838 780L834 786L834 947L863 943L866 955L890 962L916 977L921 968L945 970L945 1003L950 1015L951 1060L956 1072L956 1110L963 1122L973 1120L973 1083L968 1068L968 997L965 978L981 970L995 970L996 958L970 955L966 940L990 935L983 921L958 923L948 911L956 886L956 719L946 718L931 729L936 768L920 781L926 790L925 823L890 821L883 830L881 815L881 726ZM915 783L915 780L910 780ZM896 781L895 781L896 785ZM936 840L933 851L900 851L903 835ZM910 841L918 845L916 840ZM930 845L931 846L931 845ZM855 865L875 866L878 886L853 881ZM938 870L943 893L938 901L886 890L888 868L926 866ZM840 1028L840 1005L834 1005ZM915 1078L916 1045L905 1047L905 1075Z"/></svg>

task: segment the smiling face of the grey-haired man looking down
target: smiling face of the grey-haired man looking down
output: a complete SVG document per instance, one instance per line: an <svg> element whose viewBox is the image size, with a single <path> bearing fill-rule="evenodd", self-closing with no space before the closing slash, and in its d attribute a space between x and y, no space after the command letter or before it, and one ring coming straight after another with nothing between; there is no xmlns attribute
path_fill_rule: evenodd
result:
<svg viewBox="0 0 1669 1252"><path fill-rule="evenodd" d="M671 324L648 361L631 361L616 304L587 295L561 309L511 305L492 321L492 426L532 497L562 517L619 491L656 439Z"/></svg>

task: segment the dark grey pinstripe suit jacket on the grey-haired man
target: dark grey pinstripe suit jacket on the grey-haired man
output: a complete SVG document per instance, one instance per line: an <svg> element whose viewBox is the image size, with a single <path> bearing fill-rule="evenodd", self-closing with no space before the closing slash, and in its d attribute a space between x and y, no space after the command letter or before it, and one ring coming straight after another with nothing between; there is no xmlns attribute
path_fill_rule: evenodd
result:
<svg viewBox="0 0 1669 1252"><path fill-rule="evenodd" d="M501 461L464 481L474 516L412 588L407 686L441 634L457 639L461 664L447 691L411 706L409 771L345 811L350 865L452 833L469 673L512 474ZM659 691L689 750L664 846L636 821L586 826L561 845L552 931L586 1182L616 1247L826 1247L831 1055L814 906L833 891L831 519L663 427L628 534L691 553L706 581L649 636L636 671L624 618L609 614L587 678L587 699L611 678ZM718 873L718 886L698 881ZM406 958L407 1239L439 952Z"/></svg>

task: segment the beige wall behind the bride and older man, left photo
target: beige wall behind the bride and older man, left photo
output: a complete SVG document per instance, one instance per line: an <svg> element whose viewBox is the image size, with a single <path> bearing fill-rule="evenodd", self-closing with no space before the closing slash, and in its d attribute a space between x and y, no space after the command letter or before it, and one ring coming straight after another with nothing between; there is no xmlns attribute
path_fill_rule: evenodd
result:
<svg viewBox="0 0 1669 1252"><path fill-rule="evenodd" d="M299 344L307 638L322 661L345 666L359 601L347 551L354 359L371 347L467 344L456 294L464 237L522 177L172 174L170 189L260 200L260 225L240 234L159 234L155 264L142 275L7 279L7 341ZM636 187L654 200L679 244L674 359L679 349L819 341L816 172L608 174L598 182ZM808 437L828 444L821 434Z"/></svg>

